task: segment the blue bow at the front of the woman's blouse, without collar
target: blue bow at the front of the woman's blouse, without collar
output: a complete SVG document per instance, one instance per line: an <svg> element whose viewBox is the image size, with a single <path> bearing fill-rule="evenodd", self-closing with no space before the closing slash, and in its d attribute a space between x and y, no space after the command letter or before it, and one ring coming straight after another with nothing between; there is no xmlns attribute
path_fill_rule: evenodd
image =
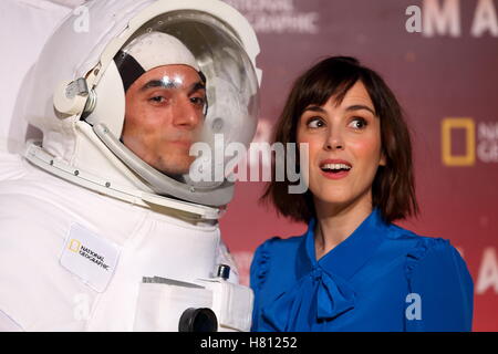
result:
<svg viewBox="0 0 498 354"><path fill-rule="evenodd" d="M274 331L311 331L317 320L332 320L353 308L351 287L315 266L292 289L263 309L262 316Z"/></svg>

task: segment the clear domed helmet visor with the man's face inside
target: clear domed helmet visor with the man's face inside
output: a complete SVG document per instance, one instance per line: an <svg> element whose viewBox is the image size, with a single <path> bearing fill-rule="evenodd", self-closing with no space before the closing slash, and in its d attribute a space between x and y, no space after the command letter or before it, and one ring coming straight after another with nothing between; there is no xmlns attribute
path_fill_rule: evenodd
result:
<svg viewBox="0 0 498 354"><path fill-rule="evenodd" d="M167 41L160 42L160 35L158 41L147 40L154 33L174 37L186 51L172 44L177 53L167 58ZM226 147L249 145L259 103L255 67L234 31L205 12L169 12L145 23L118 55L123 62L116 63L131 72L122 73L126 90L122 143L169 177L194 186L221 185L229 173L227 163L234 165L237 158L225 156ZM129 55L144 72L134 73Z"/></svg>

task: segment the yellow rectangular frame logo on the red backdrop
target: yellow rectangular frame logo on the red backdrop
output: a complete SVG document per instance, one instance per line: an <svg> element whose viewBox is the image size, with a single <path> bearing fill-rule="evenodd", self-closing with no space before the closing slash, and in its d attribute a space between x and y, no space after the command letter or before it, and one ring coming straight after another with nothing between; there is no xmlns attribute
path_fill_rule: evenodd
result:
<svg viewBox="0 0 498 354"><path fill-rule="evenodd" d="M452 132L465 129L465 154L452 154ZM473 118L444 118L442 122L443 164L446 166L473 166L476 163L476 124Z"/></svg>

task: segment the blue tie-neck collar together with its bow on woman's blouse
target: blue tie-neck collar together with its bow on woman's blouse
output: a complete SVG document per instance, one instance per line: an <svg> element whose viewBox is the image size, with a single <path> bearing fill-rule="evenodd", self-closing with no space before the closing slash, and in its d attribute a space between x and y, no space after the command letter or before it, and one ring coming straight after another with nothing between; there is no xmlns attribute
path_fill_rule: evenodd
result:
<svg viewBox="0 0 498 354"><path fill-rule="evenodd" d="M320 322L353 309L355 293L346 280L363 267L388 233L380 210L374 209L349 238L317 261L315 225L317 220L311 219L304 248L298 250L305 259L298 268L311 271L262 308L262 319L273 331L320 330Z"/></svg>

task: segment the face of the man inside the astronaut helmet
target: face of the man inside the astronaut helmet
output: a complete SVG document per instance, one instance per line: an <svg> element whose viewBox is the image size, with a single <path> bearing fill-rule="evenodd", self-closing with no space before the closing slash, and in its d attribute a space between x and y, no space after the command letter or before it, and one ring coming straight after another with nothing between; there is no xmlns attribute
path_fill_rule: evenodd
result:
<svg viewBox="0 0 498 354"><path fill-rule="evenodd" d="M126 92L122 139L145 163L169 175L189 170L190 145L204 122L206 87L187 65L164 65L138 77Z"/></svg>

